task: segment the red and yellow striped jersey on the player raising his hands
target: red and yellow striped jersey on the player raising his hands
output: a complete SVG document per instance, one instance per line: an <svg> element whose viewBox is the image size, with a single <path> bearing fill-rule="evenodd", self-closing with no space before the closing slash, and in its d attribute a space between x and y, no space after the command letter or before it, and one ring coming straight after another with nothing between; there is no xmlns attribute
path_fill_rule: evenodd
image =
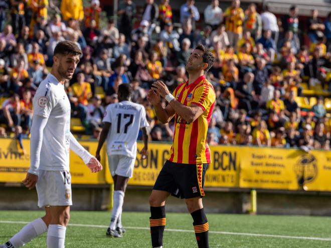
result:
<svg viewBox="0 0 331 248"><path fill-rule="evenodd" d="M174 141L169 160L183 164L210 163L206 137L216 99L215 91L205 76L199 77L190 85L188 83L180 84L173 92L174 97L186 106L196 104L204 112L192 123L175 114Z"/></svg>

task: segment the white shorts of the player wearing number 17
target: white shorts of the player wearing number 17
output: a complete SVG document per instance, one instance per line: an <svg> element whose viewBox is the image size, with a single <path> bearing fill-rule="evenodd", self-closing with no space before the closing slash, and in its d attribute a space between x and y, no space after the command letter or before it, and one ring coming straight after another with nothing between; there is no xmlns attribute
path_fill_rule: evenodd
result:
<svg viewBox="0 0 331 248"><path fill-rule="evenodd" d="M135 158L125 155L110 155L108 156L108 164L110 174L112 176L119 175L131 178L133 175Z"/></svg>

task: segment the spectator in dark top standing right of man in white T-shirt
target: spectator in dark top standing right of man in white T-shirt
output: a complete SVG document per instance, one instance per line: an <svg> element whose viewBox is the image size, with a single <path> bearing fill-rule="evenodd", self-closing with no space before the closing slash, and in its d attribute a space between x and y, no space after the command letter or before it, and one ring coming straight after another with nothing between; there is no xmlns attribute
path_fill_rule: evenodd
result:
<svg viewBox="0 0 331 248"><path fill-rule="evenodd" d="M285 33L288 30L293 32L293 38L297 48L300 47L300 41L298 37L298 30L299 30L299 19L297 17L298 12L299 9L295 5L293 5L290 7L288 15L282 18L283 32Z"/></svg>

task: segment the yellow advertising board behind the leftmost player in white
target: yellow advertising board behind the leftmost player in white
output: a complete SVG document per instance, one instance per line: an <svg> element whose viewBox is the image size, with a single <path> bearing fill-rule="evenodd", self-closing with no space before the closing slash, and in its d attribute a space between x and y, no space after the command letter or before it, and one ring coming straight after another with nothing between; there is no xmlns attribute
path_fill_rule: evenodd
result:
<svg viewBox="0 0 331 248"><path fill-rule="evenodd" d="M30 140L23 140L27 152L25 155L16 139L0 139L0 142L0 182L21 182L30 167ZM80 141L80 144L95 155L97 142ZM105 183L104 172L91 173L80 157L72 151L70 151L70 172L73 184Z"/></svg>

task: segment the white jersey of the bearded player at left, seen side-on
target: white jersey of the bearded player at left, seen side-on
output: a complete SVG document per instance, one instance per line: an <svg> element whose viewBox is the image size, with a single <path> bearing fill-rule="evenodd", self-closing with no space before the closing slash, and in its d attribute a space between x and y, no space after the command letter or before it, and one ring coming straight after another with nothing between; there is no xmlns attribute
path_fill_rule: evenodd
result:
<svg viewBox="0 0 331 248"><path fill-rule="evenodd" d="M34 115L48 118L39 168L69 171L70 102L64 85L52 74L40 83L33 99L33 111Z"/></svg>

